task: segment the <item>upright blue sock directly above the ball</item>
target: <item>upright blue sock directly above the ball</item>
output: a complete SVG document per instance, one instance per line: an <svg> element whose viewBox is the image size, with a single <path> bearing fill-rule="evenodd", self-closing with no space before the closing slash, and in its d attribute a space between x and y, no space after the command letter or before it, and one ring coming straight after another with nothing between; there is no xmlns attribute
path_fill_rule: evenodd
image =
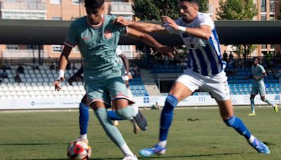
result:
<svg viewBox="0 0 281 160"><path fill-rule="evenodd" d="M80 127L80 134L84 135L87 133L88 130L88 123L89 123L89 106L85 105L84 103L79 104L79 127Z"/></svg>

